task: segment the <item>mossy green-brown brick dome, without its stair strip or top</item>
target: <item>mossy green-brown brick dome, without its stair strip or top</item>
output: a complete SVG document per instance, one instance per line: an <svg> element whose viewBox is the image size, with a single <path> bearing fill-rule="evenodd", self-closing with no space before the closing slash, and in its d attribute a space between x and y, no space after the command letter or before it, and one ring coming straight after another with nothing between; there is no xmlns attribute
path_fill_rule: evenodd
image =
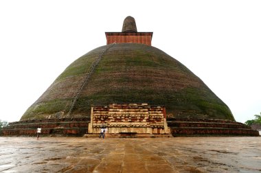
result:
<svg viewBox="0 0 261 173"><path fill-rule="evenodd" d="M106 46L98 47L71 63L21 120L43 119L69 112L73 95L87 71ZM109 48L82 89L70 117L89 117L91 104L148 103L166 106L168 117L229 119L234 117L205 84L160 49L121 43Z"/></svg>

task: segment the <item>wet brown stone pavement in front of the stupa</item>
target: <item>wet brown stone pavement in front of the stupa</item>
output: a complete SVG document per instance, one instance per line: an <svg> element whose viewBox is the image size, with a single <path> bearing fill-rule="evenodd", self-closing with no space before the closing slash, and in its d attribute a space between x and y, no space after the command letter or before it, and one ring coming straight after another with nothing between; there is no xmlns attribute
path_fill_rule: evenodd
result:
<svg viewBox="0 0 261 173"><path fill-rule="evenodd" d="M261 172L261 137L0 137L0 172Z"/></svg>

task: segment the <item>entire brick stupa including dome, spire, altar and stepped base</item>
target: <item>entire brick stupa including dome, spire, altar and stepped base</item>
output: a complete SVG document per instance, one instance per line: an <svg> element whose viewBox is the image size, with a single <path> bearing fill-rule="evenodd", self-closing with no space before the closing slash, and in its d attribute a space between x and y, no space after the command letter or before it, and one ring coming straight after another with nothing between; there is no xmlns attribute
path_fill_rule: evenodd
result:
<svg viewBox="0 0 261 173"><path fill-rule="evenodd" d="M105 32L107 46L69 65L2 135L35 135L41 126L48 136L97 136L108 126L109 134L259 136L236 122L228 106L181 62L152 47L152 34L137 32L135 19L127 16L122 32ZM98 65L93 75L84 80L93 64ZM72 101L76 105L70 108ZM148 104L135 104L140 102Z"/></svg>

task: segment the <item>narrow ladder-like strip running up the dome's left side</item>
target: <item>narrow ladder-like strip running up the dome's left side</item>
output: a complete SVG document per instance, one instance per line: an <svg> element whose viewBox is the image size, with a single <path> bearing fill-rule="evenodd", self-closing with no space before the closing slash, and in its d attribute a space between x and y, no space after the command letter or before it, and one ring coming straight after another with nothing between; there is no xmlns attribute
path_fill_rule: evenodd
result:
<svg viewBox="0 0 261 173"><path fill-rule="evenodd" d="M95 60L95 61L92 63L91 67L90 67L89 70L88 70L88 74L87 74L86 78L84 79L84 81L82 82L82 85L80 86L80 89L79 89L78 92L76 92L76 94L73 96L71 108L70 108L69 112L67 113L67 117L69 117L69 115L71 114L71 111L73 110L73 107L76 105L76 101L78 100L79 95L80 95L80 93L82 92L82 89L83 89L84 86L87 84L89 78L90 78L91 75L93 74L93 71L94 71L95 67L97 67L97 65L99 64L100 60L102 59L103 54L104 54L110 47L112 47L112 46L115 45L115 44L116 44L116 42L114 42L114 43L108 45L108 46L106 47L106 49L104 49L102 52L100 52L100 54L99 54L97 60Z"/></svg>

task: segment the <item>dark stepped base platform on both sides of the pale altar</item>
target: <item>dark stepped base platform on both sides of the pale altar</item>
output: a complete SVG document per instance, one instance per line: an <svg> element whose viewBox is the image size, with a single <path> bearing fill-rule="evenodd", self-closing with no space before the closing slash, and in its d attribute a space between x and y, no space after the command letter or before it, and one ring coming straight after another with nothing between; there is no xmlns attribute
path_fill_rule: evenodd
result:
<svg viewBox="0 0 261 173"><path fill-rule="evenodd" d="M46 136L83 136L88 133L89 117L38 119L12 122L3 127L4 136L32 136L36 128L41 126L42 134ZM258 137L258 130L242 123L222 119L177 119L168 118L168 130L174 137L188 136L252 136ZM110 128L111 129L111 128ZM100 128L97 130L100 132ZM162 130L163 132L164 130ZM95 133L98 133L95 132ZM126 132L126 131L124 131ZM111 132L113 133L113 132ZM138 134L138 133L137 133ZM153 134L153 132L152 132ZM159 134L160 135L160 134ZM163 135L163 134L162 134ZM128 136L128 135L127 135ZM133 135L135 137L135 135ZM142 136L142 135L141 135ZM120 135L122 137L122 135Z"/></svg>

